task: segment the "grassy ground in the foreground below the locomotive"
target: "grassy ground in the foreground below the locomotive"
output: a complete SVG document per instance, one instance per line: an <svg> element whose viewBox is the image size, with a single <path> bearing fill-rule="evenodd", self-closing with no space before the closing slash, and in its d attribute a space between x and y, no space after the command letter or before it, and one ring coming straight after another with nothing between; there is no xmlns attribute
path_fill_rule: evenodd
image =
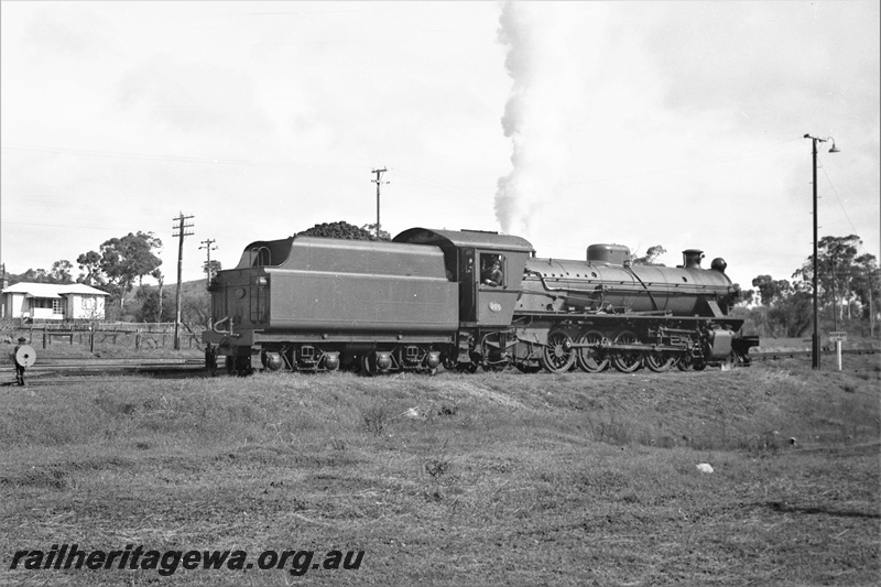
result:
<svg viewBox="0 0 881 587"><path fill-rule="evenodd" d="M873 585L881 366L845 367L2 387L0 584ZM10 568L61 544L253 566Z"/></svg>

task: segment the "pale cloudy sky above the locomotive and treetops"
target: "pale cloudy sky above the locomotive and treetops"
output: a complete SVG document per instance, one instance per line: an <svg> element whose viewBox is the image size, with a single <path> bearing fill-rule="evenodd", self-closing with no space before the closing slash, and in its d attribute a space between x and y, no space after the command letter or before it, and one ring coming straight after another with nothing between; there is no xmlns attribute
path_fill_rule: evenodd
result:
<svg viewBox="0 0 881 587"><path fill-rule="evenodd" d="M595 242L790 279L820 236L879 256L879 3L0 3L7 270L192 215L205 250L315 224Z"/></svg>

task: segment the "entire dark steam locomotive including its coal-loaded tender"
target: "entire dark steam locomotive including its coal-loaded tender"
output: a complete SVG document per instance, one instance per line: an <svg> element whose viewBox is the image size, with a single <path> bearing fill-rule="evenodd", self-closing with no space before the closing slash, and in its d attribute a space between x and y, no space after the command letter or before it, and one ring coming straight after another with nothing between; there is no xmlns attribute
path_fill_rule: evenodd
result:
<svg viewBox="0 0 881 587"><path fill-rule="evenodd" d="M526 240L411 228L393 241L290 237L249 244L208 284L206 362L261 369L433 373L513 365L562 373L749 363L758 337L730 317L738 289L715 259L631 265L618 244L540 259ZM498 263L500 274L485 279Z"/></svg>

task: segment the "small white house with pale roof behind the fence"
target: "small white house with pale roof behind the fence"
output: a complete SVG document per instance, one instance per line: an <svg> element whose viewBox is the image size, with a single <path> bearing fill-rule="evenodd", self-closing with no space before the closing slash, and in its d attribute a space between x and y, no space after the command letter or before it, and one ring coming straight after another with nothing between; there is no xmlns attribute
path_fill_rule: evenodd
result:
<svg viewBox="0 0 881 587"><path fill-rule="evenodd" d="M2 292L0 317L102 320L107 292L81 283L17 283Z"/></svg>

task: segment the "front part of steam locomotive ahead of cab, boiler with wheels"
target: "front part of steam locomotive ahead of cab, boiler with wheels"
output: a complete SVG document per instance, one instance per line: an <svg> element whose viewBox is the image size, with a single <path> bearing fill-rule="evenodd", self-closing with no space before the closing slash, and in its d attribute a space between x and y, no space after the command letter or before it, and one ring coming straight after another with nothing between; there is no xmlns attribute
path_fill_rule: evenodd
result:
<svg viewBox="0 0 881 587"><path fill-rule="evenodd" d="M630 372L748 363L758 339L740 336L742 320L729 316L739 289L725 260L705 270L703 257L688 249L676 268L631 265L627 247L592 244L586 261L529 259L514 309L515 365ZM530 338L535 345L524 348Z"/></svg>

